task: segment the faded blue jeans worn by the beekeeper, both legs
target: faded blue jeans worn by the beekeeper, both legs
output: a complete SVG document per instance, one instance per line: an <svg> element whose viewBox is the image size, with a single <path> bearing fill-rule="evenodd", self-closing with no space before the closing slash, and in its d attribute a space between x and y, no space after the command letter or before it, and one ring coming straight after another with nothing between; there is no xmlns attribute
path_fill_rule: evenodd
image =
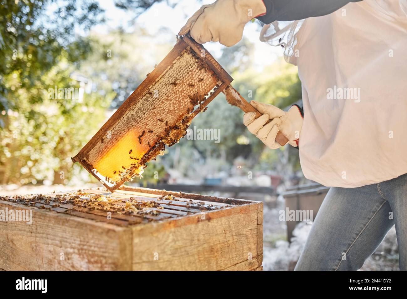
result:
<svg viewBox="0 0 407 299"><path fill-rule="evenodd" d="M295 270L357 270L396 225L400 270L407 267L407 174L358 188L332 187Z"/></svg>

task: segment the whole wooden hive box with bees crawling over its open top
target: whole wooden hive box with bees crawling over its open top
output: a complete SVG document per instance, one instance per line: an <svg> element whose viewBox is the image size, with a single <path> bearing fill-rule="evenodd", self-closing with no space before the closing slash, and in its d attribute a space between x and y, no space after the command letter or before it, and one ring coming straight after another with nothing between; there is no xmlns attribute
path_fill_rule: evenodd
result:
<svg viewBox="0 0 407 299"><path fill-rule="evenodd" d="M33 211L0 221L2 270L262 269L262 202L122 186L0 197L0 210Z"/></svg>

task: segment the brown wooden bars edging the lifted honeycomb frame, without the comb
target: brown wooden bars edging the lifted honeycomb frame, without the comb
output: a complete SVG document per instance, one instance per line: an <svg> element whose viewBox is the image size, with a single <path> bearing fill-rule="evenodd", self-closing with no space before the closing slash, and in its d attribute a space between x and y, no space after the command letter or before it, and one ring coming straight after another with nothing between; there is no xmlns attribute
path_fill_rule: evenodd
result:
<svg viewBox="0 0 407 299"><path fill-rule="evenodd" d="M105 134L112 128L116 122L134 105L140 98L150 89L156 80L166 71L166 69L174 63L178 56L187 48L193 50L202 61L212 69L212 71L219 77L219 87L213 91L206 100L201 104L202 107L208 105L221 91L223 91L233 80L228 72L221 67L221 65L213 58L213 56L199 43L194 41L189 35L180 37L174 48L169 52L165 58L148 74L147 78L137 87L135 91L127 98L125 102L118 108L118 110L110 117L100 130L88 141L82 150L72 158L73 162L79 162L92 176L101 182L109 191L118 189L124 182L121 180L109 186L103 179L96 175L85 157L90 150L105 136Z"/></svg>

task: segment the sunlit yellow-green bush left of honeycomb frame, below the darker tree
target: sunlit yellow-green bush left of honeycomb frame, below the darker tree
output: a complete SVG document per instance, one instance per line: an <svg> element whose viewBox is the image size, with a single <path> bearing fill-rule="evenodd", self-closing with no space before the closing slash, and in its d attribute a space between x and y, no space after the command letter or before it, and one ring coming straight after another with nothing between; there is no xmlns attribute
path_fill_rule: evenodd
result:
<svg viewBox="0 0 407 299"><path fill-rule="evenodd" d="M69 77L72 71L73 67L67 67L66 60L61 59L41 77L37 88L19 88L14 94L19 110L9 111L7 126L0 130L0 183L67 183L72 178L70 158L101 126L114 96L85 93L83 100L58 98L61 94L51 92L54 85L79 88L78 82ZM16 77L5 83L12 87L18 82L20 78ZM42 102L33 104L32 93Z"/></svg>

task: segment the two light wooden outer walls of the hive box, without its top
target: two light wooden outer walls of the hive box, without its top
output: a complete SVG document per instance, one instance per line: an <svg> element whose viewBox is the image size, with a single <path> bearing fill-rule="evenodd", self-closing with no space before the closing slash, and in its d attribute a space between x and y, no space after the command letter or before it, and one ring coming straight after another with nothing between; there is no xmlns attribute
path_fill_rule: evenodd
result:
<svg viewBox="0 0 407 299"><path fill-rule="evenodd" d="M239 202L122 227L0 200L2 210L33 209L31 225L0 221L0 269L261 270L263 203Z"/></svg>

